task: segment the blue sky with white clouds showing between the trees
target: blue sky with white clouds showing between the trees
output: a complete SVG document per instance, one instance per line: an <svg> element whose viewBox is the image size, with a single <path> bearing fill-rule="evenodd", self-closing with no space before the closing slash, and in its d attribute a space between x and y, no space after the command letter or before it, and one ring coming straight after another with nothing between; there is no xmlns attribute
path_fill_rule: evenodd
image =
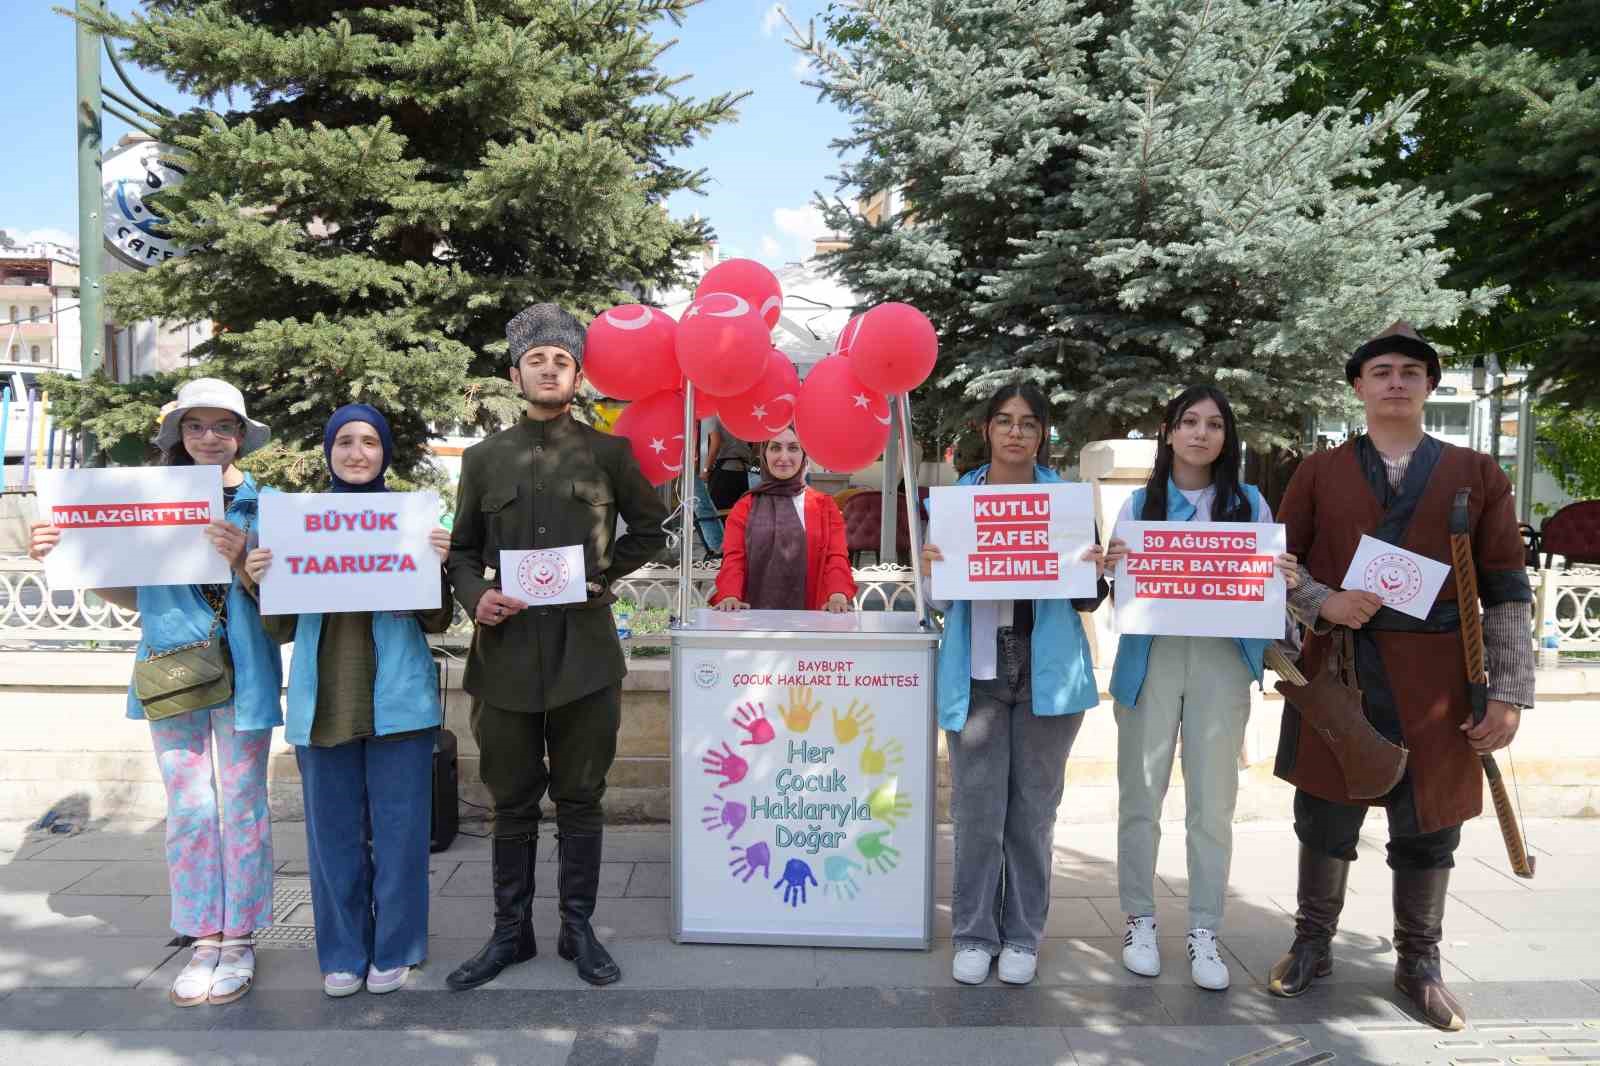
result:
<svg viewBox="0 0 1600 1066"><path fill-rule="evenodd" d="M62 242L77 230L75 59L72 22L51 6L67 2L6 0L13 77L0 112L0 152L6 160L0 229ZM786 6L803 24L826 3L789 0ZM136 0L112 0L112 6L131 11ZM816 90L800 83L803 64L784 43L787 30L774 6L771 0L706 0L682 27L662 24L661 35L675 35L678 45L661 58L661 67L693 75L680 91L696 98L752 90L738 123L717 128L680 154L683 165L704 166L710 184L704 197L675 197L670 210L680 216L699 211L710 219L731 254L779 266L806 254L821 230L811 200L818 190L834 192L829 176L837 173L837 158L829 141L842 136L846 123L838 109L818 102ZM170 107L190 102L155 74L141 77L131 67L130 74ZM109 64L106 85L120 86ZM107 117L106 146L125 131Z"/></svg>

